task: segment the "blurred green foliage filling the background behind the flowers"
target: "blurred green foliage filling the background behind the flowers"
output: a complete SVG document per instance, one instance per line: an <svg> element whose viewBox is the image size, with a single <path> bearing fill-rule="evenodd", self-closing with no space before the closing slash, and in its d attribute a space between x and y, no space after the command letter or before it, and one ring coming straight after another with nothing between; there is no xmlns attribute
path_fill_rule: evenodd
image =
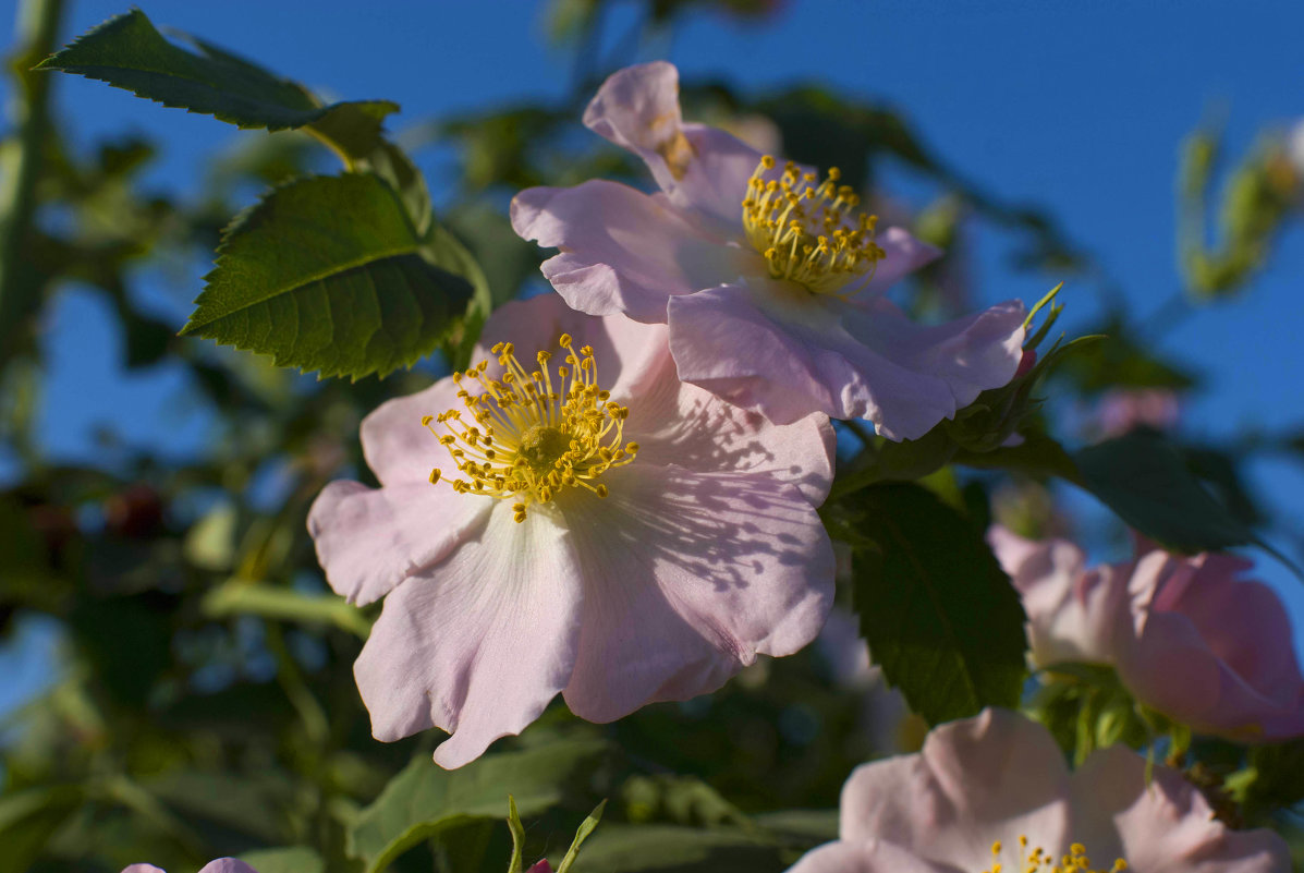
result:
<svg viewBox="0 0 1304 873"><path fill-rule="evenodd" d="M892 706L863 685L835 682L814 649L763 659L716 694L649 706L614 724L587 724L554 705L522 737L449 774L430 763L430 735L395 744L370 737L351 666L378 607L357 609L326 589L304 530L308 505L326 482L369 475L357 442L361 416L428 385L441 368L463 365L492 308L540 282L542 254L511 232L510 196L593 176L643 184L627 155L576 136L583 102L601 77L634 54L631 46L669 31L683 16L708 10L765 26L780 4L648 0L634 31L617 40L604 37L608 5L550 4L550 34L575 56L569 99L425 119L393 138L382 128L393 104L322 104L202 40L176 46L142 13L129 13L110 25L132 29L158 65L190 65L196 81L211 87L196 91L194 82L138 70L100 78L241 127L295 128L250 132L231 151L211 155L193 188L159 192L142 177L167 144L126 136L78 142L63 123L50 121L55 76L30 68L56 50L68 22L56 0L27 4L30 26L10 55L21 99L13 100L0 142L0 445L14 470L0 487L0 636L13 642L23 628L53 629L60 655L51 685L8 714L0 735L0 873L116 873L143 859L181 872L219 855L241 855L261 873L386 865L403 873L501 870L514 857L514 833L501 822L509 792L528 818L515 853L527 864L544 856L559 863L575 822L610 800L576 873L781 870L836 835L831 810L852 767L893 750L875 745L870 729ZM95 34L102 38L103 29L47 68L91 74L103 60L95 52L106 51ZM232 90L233 70L241 85ZM926 180L935 192L930 204L917 210L883 204L883 211L900 210L893 223L948 249L917 279L919 312L970 308L962 252L973 224L1015 245L1016 269L1081 281L1098 275L1090 253L1048 213L1003 202L962 179L893 108L823 85L751 94L726 82L685 82L683 99L687 116L768 136L798 161L841 167L858 188L879 187L900 168ZM438 218L407 157L432 144L451 147L458 161L456 185L441 192ZM1299 180L1287 177L1281 149L1264 145L1234 171L1219 211L1222 243L1209 251L1197 219L1209 210L1215 146L1215 137L1200 133L1187 149L1179 191L1189 287L1181 307L1187 295L1210 299L1247 287L1297 205ZM409 365L434 348L442 355L383 382L317 382L266 358L181 338L180 324L143 303L147 270L188 282L222 240L224 252L240 245L262 213L230 222L254 194L273 188L269 200L282 198L289 180L331 161L342 161L348 175L316 176L312 187L383 189L389 202L377 202L398 204L394 214L407 234L408 254L398 257L420 260L419 271L460 279L421 286L447 291L425 298L447 308L432 318L438 329L415 331L403 354L326 369L360 376ZM368 252L360 258L370 265L364 270L385 264ZM219 264L210 288L222 286L224 269ZM283 279L266 279L266 287L299 287L293 277ZM108 303L125 367L185 372L186 399L211 418L198 455L121 450L94 465L46 455L37 429L48 377L39 325L72 288ZM202 312L203 300L200 305ZM919 603L949 603L944 616L902 613L910 621L893 617L867 628L888 677L934 720L987 702L1015 703L1022 688L1021 613L981 539L998 478L1017 493L1051 479L1088 484L1133 525L1153 535L1167 525L1163 539L1194 548L1252 542L1253 526L1270 518L1244 485L1251 453L1304 459L1299 435L1183 446L1134 433L1085 452L1065 448L1054 436L1052 402L1043 403L1043 393L1064 402L1059 398L1095 398L1118 386L1200 388L1196 375L1155 352L1150 328L1125 309L1099 333L1107 339L1048 342L1008 388L985 393L922 440L862 444L854 425L844 432L854 457L842 465L837 498L825 509L835 535L854 547L840 599L879 603L914 591ZM1050 339L1045 329L1029 348L1042 339ZM310 356L280 360L322 367ZM1131 471L1121 484L1120 470ZM1132 487L1161 475L1168 476L1164 488L1180 487L1176 519L1171 501L1148 504ZM908 480L922 484L901 484ZM952 543L964 548L951 549ZM908 556L911 568L901 566ZM918 594L934 582L938 596ZM960 591L978 586L991 596L970 602ZM982 609L991 615L974 621ZM867 611L862 621L874 615ZM932 664L919 679L889 666L893 649L923 638L939 621L956 632L949 664ZM998 626L1003 634L990 638ZM910 663L923 666L914 655ZM938 680L956 676L968 676L961 686L982 690L957 705L938 688ZM1072 753L1111 740L1153 741L1107 676L1061 675L1055 682L1033 707ZM1217 761L1208 748L1196 744L1191 756L1223 766L1251 821L1300 801L1304 759L1294 745L1223 750Z"/></svg>

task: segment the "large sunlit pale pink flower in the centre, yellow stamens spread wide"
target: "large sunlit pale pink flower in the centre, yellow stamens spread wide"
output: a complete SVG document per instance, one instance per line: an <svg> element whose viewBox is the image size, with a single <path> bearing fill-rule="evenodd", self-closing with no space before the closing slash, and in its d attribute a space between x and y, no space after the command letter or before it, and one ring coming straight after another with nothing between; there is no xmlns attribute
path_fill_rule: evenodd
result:
<svg viewBox="0 0 1304 873"><path fill-rule="evenodd" d="M512 343L497 365L363 421L382 487L331 483L308 528L336 591L389 595L355 666L377 739L441 727L434 758L455 767L558 692L609 722L819 633L828 420L775 425L682 384L665 333L512 303L485 325Z"/></svg>

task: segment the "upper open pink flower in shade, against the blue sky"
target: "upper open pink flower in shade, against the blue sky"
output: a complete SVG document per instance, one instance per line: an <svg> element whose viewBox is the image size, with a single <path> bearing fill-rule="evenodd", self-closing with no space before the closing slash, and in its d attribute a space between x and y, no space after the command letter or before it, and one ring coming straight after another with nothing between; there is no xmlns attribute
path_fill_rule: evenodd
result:
<svg viewBox="0 0 1304 873"><path fill-rule="evenodd" d="M836 170L818 184L685 124L670 64L613 74L584 124L643 158L660 193L601 179L531 188L512 201L512 227L561 249L542 269L571 307L668 324L683 381L778 424L867 418L909 440L1015 375L1021 303L911 322L882 292L936 251L879 232Z"/></svg>

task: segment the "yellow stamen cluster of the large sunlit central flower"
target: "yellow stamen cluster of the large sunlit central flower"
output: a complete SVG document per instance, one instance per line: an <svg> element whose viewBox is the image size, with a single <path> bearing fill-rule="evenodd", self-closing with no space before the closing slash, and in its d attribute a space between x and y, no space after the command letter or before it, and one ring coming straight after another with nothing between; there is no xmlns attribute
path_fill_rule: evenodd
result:
<svg viewBox="0 0 1304 873"><path fill-rule="evenodd" d="M623 444L630 410L610 402L610 393L597 385L593 348L584 346L576 354L569 334L562 334L559 345L566 363L557 368L556 385L549 352L539 352L539 369L527 371L511 343L498 343L492 351L503 367L502 377L485 376L488 361L466 375L452 375L473 424L462 420L460 410L421 419L462 474L446 480L452 489L516 497L512 510L518 522L526 521L529 504L546 504L562 488L587 488L606 497L606 485L595 480L630 463L639 452L638 442ZM484 390L471 394L460 388L464 378L480 382ZM442 478L438 467L430 471L432 483Z"/></svg>

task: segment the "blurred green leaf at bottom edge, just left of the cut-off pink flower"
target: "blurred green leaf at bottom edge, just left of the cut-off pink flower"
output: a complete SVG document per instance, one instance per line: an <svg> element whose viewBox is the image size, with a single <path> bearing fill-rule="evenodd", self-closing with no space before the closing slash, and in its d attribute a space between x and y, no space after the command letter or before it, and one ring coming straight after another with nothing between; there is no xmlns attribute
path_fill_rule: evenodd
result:
<svg viewBox="0 0 1304 873"><path fill-rule="evenodd" d="M738 829L612 825L589 840L575 873L780 873L795 860Z"/></svg>

